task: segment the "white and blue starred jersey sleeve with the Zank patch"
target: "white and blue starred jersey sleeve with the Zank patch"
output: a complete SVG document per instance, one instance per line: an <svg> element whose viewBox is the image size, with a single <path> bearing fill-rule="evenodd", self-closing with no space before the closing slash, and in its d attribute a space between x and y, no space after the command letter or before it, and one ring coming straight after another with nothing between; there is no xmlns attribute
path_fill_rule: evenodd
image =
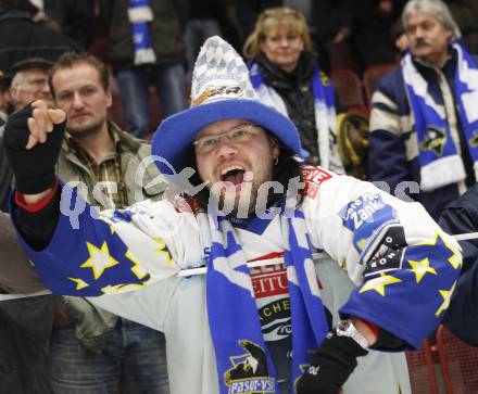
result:
<svg viewBox="0 0 478 394"><path fill-rule="evenodd" d="M418 203L317 167L304 177L311 243L357 285L340 313L419 347L450 305L462 265L457 242Z"/></svg>

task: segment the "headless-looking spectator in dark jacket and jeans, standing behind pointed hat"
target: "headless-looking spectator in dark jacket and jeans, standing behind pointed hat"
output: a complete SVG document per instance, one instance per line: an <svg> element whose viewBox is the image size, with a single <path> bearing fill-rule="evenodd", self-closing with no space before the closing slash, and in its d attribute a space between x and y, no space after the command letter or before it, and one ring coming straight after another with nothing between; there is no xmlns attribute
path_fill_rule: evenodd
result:
<svg viewBox="0 0 478 394"><path fill-rule="evenodd" d="M144 138L151 126L150 85L156 88L163 117L186 107L188 1L155 0L141 8L136 3L100 0L100 10L108 25L109 60L120 86L126 129Z"/></svg>

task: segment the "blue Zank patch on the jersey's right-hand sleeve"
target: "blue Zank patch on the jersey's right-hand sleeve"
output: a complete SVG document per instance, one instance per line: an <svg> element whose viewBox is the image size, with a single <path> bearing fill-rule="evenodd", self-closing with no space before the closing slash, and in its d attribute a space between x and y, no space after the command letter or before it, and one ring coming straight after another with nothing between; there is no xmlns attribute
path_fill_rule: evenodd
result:
<svg viewBox="0 0 478 394"><path fill-rule="evenodd" d="M383 228L398 224L395 209L377 192L368 192L350 202L339 212L342 225L353 232L353 245L361 257L368 254Z"/></svg>

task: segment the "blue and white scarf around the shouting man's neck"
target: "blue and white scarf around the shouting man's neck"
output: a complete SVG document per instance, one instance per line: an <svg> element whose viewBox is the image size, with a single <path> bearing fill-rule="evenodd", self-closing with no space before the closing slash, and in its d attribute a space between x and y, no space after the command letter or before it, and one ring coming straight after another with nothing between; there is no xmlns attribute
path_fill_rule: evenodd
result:
<svg viewBox="0 0 478 394"><path fill-rule="evenodd" d="M279 393L244 252L229 220L212 214L206 300L219 393ZM280 217L292 320L291 386L328 332L302 211ZM293 393L295 391L293 390Z"/></svg>

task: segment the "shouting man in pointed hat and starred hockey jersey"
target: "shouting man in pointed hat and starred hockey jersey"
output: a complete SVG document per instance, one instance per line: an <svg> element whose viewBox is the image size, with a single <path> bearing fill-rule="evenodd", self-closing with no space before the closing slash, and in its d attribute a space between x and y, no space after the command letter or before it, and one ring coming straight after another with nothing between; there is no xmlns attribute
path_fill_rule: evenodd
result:
<svg viewBox="0 0 478 394"><path fill-rule="evenodd" d="M223 39L201 49L191 107L153 138L158 166L190 195L91 211L51 170L64 114L29 110L5 126L23 247L55 292L163 331L172 393L410 392L386 354L352 372L372 349L420 346L453 293L457 243L419 204L303 165L297 128ZM72 206L86 209L73 220ZM327 292L341 297L334 328Z"/></svg>

